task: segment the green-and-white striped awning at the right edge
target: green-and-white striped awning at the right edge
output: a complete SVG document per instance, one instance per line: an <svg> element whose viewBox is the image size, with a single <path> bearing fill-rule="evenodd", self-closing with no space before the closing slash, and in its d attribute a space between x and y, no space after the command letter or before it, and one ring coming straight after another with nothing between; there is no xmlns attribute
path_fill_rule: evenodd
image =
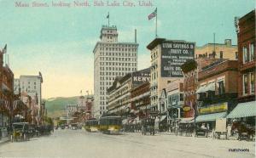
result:
<svg viewBox="0 0 256 158"><path fill-rule="evenodd" d="M256 101L240 103L236 108L230 112L227 118L240 118L256 116Z"/></svg>

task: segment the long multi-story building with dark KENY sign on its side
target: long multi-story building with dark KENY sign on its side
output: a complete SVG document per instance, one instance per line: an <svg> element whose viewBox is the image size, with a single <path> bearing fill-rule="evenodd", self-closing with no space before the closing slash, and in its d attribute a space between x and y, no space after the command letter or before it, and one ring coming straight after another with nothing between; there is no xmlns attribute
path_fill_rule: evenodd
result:
<svg viewBox="0 0 256 158"><path fill-rule="evenodd" d="M108 88L108 112L123 115L126 110L132 110L135 114L136 106L131 104L131 91L149 81L149 68L117 77L113 86Z"/></svg>

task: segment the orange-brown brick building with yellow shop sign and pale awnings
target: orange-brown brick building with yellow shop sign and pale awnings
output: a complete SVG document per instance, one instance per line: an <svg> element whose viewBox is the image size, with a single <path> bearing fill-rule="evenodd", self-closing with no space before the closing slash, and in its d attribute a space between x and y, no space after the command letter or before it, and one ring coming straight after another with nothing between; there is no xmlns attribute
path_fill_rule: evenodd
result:
<svg viewBox="0 0 256 158"><path fill-rule="evenodd" d="M223 60L202 67L198 72L196 122L207 122L215 128L215 121L225 117L237 104L238 61Z"/></svg>

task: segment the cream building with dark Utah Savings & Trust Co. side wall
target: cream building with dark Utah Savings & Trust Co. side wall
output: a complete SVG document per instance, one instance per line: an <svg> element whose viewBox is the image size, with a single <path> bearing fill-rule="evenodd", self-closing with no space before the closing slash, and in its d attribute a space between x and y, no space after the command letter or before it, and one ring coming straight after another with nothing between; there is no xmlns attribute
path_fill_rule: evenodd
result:
<svg viewBox="0 0 256 158"><path fill-rule="evenodd" d="M183 78L181 65L194 59L195 42L155 38L147 48L151 51L151 110L164 112L160 108L161 91L168 83Z"/></svg>

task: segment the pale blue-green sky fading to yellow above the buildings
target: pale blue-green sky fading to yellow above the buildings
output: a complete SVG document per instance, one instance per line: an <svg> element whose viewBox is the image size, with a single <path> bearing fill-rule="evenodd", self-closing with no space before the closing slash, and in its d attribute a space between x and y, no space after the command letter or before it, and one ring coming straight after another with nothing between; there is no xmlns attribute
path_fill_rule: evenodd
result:
<svg viewBox="0 0 256 158"><path fill-rule="evenodd" d="M93 48L100 40L102 25L116 25L119 42L134 42L137 29L138 70L150 66L146 48L155 37L155 19L148 20L157 7L158 36L172 40L195 42L202 46L232 39L236 44L234 18L255 8L254 0L151 0L153 6L52 7L54 3L72 0L40 0L49 7L15 7L28 0L0 0L0 48L7 44L9 67L15 74L38 75L42 72L43 98L78 96L80 91L93 92ZM78 0L78 2L84 2ZM106 3L107 0L102 0ZM109 0L109 2L113 2ZM148 2L148 1L145 1Z"/></svg>

